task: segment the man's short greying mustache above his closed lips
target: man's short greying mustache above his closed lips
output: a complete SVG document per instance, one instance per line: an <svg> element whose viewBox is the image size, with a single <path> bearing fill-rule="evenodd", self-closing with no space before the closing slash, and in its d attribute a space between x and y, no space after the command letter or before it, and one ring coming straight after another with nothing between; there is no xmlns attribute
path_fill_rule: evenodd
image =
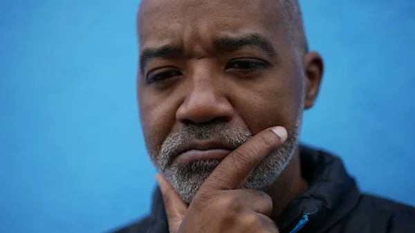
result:
<svg viewBox="0 0 415 233"><path fill-rule="evenodd" d="M158 153L159 162L171 161L178 151L194 140L218 140L232 147L239 147L252 138L252 132L244 127L232 127L226 122L189 123L178 131L169 134Z"/></svg>

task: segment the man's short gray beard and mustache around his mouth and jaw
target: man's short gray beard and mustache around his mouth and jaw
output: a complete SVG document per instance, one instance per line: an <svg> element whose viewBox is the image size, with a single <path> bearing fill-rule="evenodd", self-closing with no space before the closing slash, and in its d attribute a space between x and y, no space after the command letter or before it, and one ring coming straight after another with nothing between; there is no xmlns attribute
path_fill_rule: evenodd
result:
<svg viewBox="0 0 415 233"><path fill-rule="evenodd" d="M295 129L288 131L286 142L257 165L242 188L264 190L274 183L295 153L299 140L301 116L296 123ZM163 142L159 153L151 153L154 165L187 203L192 201L199 188L221 161L194 160L180 164L174 162L177 151L185 145L185 142L212 138L239 147L252 138L252 133L248 129L229 129L221 122L190 124L181 131L169 135Z"/></svg>

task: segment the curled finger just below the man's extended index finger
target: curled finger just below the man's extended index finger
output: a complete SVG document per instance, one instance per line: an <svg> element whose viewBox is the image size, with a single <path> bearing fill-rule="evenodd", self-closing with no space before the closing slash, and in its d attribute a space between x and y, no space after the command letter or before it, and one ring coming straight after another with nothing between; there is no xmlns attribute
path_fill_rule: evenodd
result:
<svg viewBox="0 0 415 233"><path fill-rule="evenodd" d="M235 196L240 196L243 205L254 212L271 216L273 214L273 199L265 192L255 189L234 189L231 191Z"/></svg>

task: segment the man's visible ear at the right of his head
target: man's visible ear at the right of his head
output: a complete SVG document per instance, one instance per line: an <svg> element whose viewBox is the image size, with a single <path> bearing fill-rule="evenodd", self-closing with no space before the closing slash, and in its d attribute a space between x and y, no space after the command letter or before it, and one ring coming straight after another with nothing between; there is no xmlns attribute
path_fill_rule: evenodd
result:
<svg viewBox="0 0 415 233"><path fill-rule="evenodd" d="M324 64L320 54L309 52L304 55L305 98L304 109L310 109L317 99L322 82Z"/></svg>

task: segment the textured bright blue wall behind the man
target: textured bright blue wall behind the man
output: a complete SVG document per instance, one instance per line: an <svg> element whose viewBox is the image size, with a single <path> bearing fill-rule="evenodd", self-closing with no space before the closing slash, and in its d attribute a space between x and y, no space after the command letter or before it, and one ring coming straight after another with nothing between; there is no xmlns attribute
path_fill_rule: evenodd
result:
<svg viewBox="0 0 415 233"><path fill-rule="evenodd" d="M0 232L99 233L149 212L138 1L0 3ZM302 141L362 190L415 205L415 2L302 1L326 62Z"/></svg>

